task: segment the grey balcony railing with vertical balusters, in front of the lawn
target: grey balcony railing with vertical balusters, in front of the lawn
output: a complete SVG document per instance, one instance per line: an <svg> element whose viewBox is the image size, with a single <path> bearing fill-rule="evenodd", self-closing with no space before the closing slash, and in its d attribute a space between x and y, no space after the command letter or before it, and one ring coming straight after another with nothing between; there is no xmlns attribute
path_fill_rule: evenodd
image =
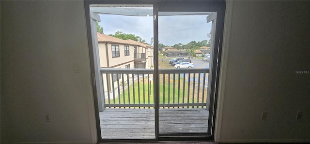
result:
<svg viewBox="0 0 310 144"><path fill-rule="evenodd" d="M206 107L209 69L159 70L159 107ZM105 108L154 108L154 70L101 68Z"/></svg>

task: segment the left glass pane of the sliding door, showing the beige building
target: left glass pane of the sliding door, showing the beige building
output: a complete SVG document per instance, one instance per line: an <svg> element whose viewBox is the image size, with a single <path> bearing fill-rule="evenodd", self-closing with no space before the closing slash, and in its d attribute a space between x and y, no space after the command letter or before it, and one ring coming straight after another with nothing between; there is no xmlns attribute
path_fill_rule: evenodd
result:
<svg viewBox="0 0 310 144"><path fill-rule="evenodd" d="M92 4L90 10L97 16L102 139L155 139L153 5Z"/></svg>

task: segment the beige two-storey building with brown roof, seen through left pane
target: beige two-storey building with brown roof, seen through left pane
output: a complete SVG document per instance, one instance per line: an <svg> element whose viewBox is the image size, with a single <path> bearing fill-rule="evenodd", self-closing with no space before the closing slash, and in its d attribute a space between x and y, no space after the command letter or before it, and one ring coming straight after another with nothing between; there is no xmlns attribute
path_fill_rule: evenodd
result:
<svg viewBox="0 0 310 144"><path fill-rule="evenodd" d="M101 68L149 69L154 48L133 40L122 40L97 32Z"/></svg>

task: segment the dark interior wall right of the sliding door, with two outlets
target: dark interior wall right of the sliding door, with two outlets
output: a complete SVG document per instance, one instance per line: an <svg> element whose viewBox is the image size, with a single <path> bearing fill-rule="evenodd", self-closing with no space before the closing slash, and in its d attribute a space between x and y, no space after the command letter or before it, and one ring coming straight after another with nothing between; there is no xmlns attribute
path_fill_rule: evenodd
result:
<svg viewBox="0 0 310 144"><path fill-rule="evenodd" d="M310 2L236 0L232 12L220 142L310 142L310 74L295 73L310 71Z"/></svg>

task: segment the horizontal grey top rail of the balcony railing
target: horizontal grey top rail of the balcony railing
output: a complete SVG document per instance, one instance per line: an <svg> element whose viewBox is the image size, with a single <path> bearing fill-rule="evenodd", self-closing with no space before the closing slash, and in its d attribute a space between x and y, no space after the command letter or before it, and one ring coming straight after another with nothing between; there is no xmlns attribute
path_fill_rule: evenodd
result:
<svg viewBox="0 0 310 144"><path fill-rule="evenodd" d="M159 69L160 74L163 73L209 73L209 69ZM134 73L134 74L154 74L154 69L114 69L101 68L101 73Z"/></svg>

